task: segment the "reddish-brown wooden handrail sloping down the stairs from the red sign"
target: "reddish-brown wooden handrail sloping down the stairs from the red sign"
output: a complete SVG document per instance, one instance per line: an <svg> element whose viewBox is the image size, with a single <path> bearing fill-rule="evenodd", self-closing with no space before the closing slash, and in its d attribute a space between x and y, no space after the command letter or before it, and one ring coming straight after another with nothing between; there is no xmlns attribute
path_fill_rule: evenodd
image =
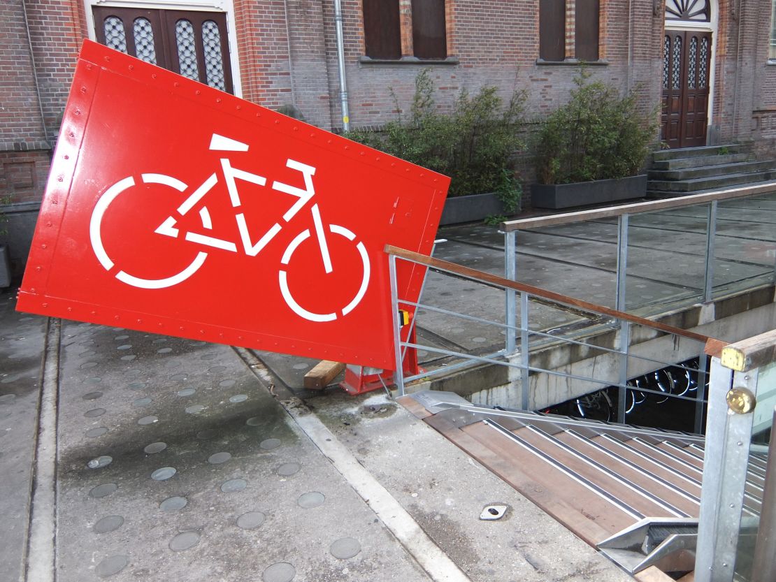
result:
<svg viewBox="0 0 776 582"><path fill-rule="evenodd" d="M535 287L532 285L525 285L524 283L511 281L510 279L505 279L499 275L492 275L487 272L478 271L475 268L464 267L463 265L458 265L457 263L443 261L440 258L428 257L427 255L421 255L420 253L416 253L414 251L407 251L404 248L394 247L390 244L386 244L385 251L388 255L405 258L409 261L416 262L418 265L426 265L427 267L438 268L442 271L450 272L455 275L461 275L469 279L475 279L476 281L504 287L504 289L514 289L515 291L520 291L521 293L530 293L533 296L541 297L542 299L554 301L556 303L563 303L564 305L569 305L571 307L579 307L582 310L593 311L594 313L630 321L632 324L653 327L653 329L665 331L667 334L680 335L683 338L700 341L703 344L706 344L709 340L712 340L712 342L718 341L714 340L714 338L710 338L708 335L696 334L694 331L687 331L681 329L681 327L661 324L659 321L649 320L646 319L646 317L626 314L624 311L618 311L611 309L610 307L598 305L596 303L589 303L587 301L574 299L573 297L561 295L560 293L553 293L553 291L548 291L546 289L542 289L541 287Z"/></svg>

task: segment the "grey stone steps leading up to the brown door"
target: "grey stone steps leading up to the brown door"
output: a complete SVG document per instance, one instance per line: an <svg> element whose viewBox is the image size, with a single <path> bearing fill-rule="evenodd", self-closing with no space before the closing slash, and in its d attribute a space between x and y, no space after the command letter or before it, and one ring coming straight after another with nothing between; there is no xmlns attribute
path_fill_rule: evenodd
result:
<svg viewBox="0 0 776 582"><path fill-rule="evenodd" d="M648 198L676 198L776 179L776 160L757 160L752 144L687 147L654 152L648 175Z"/></svg>

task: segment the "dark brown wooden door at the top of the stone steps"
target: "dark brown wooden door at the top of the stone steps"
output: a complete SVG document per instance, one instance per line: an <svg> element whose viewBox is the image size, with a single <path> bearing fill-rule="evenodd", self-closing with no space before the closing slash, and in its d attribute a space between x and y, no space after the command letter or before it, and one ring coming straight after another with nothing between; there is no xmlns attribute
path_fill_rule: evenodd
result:
<svg viewBox="0 0 776 582"><path fill-rule="evenodd" d="M669 30L663 39L661 137L670 147L706 144L712 33Z"/></svg>

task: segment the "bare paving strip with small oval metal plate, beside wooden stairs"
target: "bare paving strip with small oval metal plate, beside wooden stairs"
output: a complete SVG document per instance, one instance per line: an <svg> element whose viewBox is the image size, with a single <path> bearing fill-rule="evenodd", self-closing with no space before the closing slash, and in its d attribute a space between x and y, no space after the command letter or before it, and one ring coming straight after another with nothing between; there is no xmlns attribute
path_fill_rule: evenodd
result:
<svg viewBox="0 0 776 582"><path fill-rule="evenodd" d="M471 580L632 580L385 394L310 404ZM481 520L490 504L504 517Z"/></svg>

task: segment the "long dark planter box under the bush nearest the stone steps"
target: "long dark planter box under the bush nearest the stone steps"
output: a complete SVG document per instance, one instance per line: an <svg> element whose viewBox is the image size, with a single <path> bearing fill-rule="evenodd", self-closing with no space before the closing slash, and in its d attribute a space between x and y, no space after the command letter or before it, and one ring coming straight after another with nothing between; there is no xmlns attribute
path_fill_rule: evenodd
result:
<svg viewBox="0 0 776 582"><path fill-rule="evenodd" d="M646 174L615 180L531 185L531 206L535 208L569 208L644 196L646 196Z"/></svg>

